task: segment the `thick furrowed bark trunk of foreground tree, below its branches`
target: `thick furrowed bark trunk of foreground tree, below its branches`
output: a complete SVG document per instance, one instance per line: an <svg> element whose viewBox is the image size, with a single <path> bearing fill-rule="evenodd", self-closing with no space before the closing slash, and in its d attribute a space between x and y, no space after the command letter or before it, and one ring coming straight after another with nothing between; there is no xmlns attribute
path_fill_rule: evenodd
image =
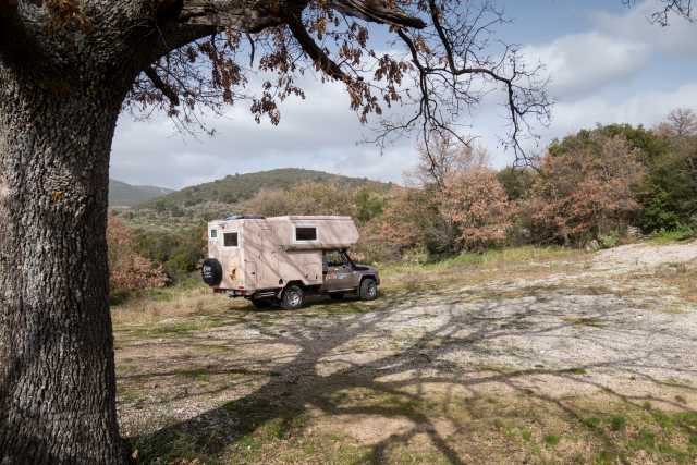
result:
<svg viewBox="0 0 697 465"><path fill-rule="evenodd" d="M123 463L106 222L126 86L0 62L0 463Z"/></svg>

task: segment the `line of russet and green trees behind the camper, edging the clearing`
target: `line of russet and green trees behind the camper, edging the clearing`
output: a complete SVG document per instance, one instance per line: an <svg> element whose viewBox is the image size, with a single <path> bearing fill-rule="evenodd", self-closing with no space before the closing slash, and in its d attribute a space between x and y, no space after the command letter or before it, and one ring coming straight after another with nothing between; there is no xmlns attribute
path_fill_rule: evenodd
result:
<svg viewBox="0 0 697 465"><path fill-rule="evenodd" d="M697 115L672 111L652 129L598 125L552 142L525 168L490 168L481 147L440 137L406 186L301 182L265 188L245 213L348 215L367 261L433 260L491 247L607 247L627 236L697 232ZM111 285L163 286L197 269L205 225L152 234L109 222Z"/></svg>

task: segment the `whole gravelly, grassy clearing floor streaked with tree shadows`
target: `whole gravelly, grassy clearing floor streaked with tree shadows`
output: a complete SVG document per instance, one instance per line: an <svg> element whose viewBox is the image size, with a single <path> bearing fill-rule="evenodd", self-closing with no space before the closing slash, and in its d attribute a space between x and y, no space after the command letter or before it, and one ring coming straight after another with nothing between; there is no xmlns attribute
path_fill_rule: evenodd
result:
<svg viewBox="0 0 697 465"><path fill-rule="evenodd" d="M384 281L296 313L200 291L114 310L138 460L697 463L697 242Z"/></svg>

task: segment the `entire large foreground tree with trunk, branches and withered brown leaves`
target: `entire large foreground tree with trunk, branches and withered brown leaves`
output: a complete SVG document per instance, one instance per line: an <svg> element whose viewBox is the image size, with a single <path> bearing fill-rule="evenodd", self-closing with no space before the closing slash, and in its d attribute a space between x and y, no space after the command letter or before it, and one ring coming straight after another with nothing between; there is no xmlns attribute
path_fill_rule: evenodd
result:
<svg viewBox="0 0 697 465"><path fill-rule="evenodd" d="M404 105L381 140L417 130L427 146L500 88L519 147L549 102L515 47L491 54L501 14L473 4L0 0L0 463L126 460L105 238L124 105L187 123L197 105L250 99L255 118L278 123L279 99L302 95L296 78L315 68L345 84L362 120ZM370 50L367 23L405 53ZM246 94L246 63L274 76L260 95Z"/></svg>

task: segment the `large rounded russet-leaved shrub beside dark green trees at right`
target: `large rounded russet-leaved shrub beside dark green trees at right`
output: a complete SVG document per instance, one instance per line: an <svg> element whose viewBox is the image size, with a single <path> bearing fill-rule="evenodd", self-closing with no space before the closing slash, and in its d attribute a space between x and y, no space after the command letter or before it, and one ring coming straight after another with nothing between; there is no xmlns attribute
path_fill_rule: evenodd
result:
<svg viewBox="0 0 697 465"><path fill-rule="evenodd" d="M537 242L583 245L622 231L641 207L645 169L622 136L595 133L591 143L543 157L526 206Z"/></svg>

